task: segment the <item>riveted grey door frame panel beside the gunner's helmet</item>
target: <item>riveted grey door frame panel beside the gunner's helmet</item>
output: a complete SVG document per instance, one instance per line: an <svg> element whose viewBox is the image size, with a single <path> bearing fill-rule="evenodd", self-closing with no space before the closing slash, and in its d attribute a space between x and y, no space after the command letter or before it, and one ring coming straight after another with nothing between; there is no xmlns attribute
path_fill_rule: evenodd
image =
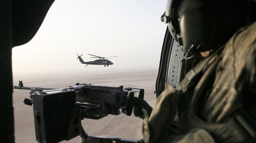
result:
<svg viewBox="0 0 256 143"><path fill-rule="evenodd" d="M180 81L184 78L182 55L183 52L179 43L175 41L167 27L156 79L156 97L164 91L165 83L178 89Z"/></svg>

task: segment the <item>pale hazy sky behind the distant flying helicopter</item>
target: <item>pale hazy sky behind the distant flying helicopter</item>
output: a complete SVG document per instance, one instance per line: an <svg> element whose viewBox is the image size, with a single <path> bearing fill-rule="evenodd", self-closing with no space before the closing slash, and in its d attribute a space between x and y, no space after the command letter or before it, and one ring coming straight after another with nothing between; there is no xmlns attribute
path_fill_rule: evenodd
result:
<svg viewBox="0 0 256 143"><path fill-rule="evenodd" d="M13 74L108 73L157 69L167 25L167 0L56 0L35 37L12 49ZM79 63L90 55L114 65Z"/></svg>

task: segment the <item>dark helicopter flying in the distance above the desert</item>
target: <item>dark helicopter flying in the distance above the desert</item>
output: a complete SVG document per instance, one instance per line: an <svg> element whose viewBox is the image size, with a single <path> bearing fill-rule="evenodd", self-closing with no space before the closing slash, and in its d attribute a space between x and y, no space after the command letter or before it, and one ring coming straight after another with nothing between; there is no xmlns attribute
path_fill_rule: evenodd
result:
<svg viewBox="0 0 256 143"><path fill-rule="evenodd" d="M77 54L78 55L78 54ZM110 59L111 57L118 57L117 55L115 55L115 56L111 56L111 57L99 57L99 56L97 56L97 55L92 55L92 54L88 54L88 55L92 55L93 57L91 57L91 58L98 58L97 60L93 60L93 61L90 61L90 62L85 62L85 61L83 61L83 59L82 59L82 56L83 54L81 54L81 55L78 55L78 57L77 57L77 59L79 59L80 60L80 62L81 62L81 64L86 64L86 67L87 67L87 65L88 64L92 64L92 65L104 65L104 67L109 67L109 65L112 65L112 64L114 64L114 63L112 63L110 60L107 60L107 59Z"/></svg>

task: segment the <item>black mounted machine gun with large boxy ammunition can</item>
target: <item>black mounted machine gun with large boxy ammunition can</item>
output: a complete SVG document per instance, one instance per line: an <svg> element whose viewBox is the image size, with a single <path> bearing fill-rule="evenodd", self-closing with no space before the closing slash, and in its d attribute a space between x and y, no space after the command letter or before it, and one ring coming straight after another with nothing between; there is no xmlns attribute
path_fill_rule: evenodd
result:
<svg viewBox="0 0 256 143"><path fill-rule="evenodd" d="M144 98L144 89L79 84L64 89L19 86L14 89L31 90L24 104L33 105L36 139L38 142L60 142L80 135L82 142L136 142L116 136L88 136L81 120L101 119L122 113L130 116L134 93Z"/></svg>

